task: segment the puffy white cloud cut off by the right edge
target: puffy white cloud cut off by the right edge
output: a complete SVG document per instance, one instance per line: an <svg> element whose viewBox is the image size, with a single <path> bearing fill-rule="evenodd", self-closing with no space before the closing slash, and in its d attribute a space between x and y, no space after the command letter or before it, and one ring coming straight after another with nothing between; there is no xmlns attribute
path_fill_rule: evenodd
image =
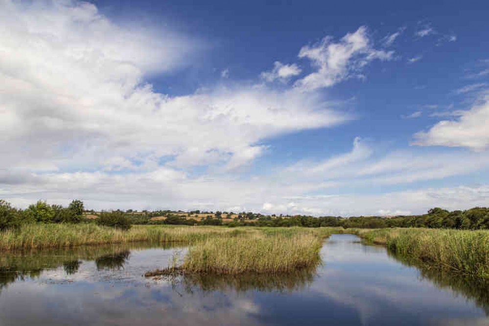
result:
<svg viewBox="0 0 489 326"><path fill-rule="evenodd" d="M489 101L488 98L480 105L459 113L457 120L443 120L435 124L427 132L415 135L416 145L441 145L449 147L468 147L481 151L489 146Z"/></svg>

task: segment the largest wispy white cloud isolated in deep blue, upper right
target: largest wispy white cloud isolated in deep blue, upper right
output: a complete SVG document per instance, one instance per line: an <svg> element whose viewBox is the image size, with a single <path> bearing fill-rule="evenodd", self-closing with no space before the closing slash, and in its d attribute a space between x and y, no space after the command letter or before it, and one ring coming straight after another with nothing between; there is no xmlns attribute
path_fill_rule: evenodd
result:
<svg viewBox="0 0 489 326"><path fill-rule="evenodd" d="M364 78L360 71L366 65L375 59L392 60L393 55L394 51L373 48L365 26L348 33L338 43L326 36L318 44L301 48L299 57L309 59L317 71L297 80L295 86L302 91L314 91L351 77Z"/></svg>

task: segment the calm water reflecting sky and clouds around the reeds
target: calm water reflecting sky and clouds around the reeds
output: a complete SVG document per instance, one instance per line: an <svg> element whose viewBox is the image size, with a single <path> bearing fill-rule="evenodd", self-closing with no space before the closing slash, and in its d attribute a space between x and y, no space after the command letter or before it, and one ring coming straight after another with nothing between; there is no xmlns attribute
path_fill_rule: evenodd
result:
<svg viewBox="0 0 489 326"><path fill-rule="evenodd" d="M489 290L335 234L287 277L144 278L183 247L0 256L0 325L489 325Z"/></svg>

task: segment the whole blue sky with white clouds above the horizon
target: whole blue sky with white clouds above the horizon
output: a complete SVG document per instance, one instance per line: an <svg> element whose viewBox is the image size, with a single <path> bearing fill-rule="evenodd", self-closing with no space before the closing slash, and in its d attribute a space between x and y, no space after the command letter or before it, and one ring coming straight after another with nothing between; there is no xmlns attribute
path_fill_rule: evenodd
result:
<svg viewBox="0 0 489 326"><path fill-rule="evenodd" d="M0 198L488 206L489 2L193 2L0 0Z"/></svg>

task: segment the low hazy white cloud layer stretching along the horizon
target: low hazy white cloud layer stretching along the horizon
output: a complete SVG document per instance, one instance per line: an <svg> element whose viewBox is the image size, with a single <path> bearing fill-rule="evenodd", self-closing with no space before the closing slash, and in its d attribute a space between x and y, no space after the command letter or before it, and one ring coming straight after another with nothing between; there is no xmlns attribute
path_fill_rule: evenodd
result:
<svg viewBox="0 0 489 326"><path fill-rule="evenodd" d="M483 205L489 198L489 188L430 188L381 194L358 194L356 189L426 182L488 167L486 153L471 152L427 155L405 151L379 160L373 157L372 146L356 139L345 154L317 163L276 167L276 173L249 179L230 175L192 178L184 171L161 166L150 172L125 174L0 173L0 197L23 207L39 198L67 204L76 196L94 209L205 208L313 215L378 214L379 210L421 213L434 206L463 209Z"/></svg>

